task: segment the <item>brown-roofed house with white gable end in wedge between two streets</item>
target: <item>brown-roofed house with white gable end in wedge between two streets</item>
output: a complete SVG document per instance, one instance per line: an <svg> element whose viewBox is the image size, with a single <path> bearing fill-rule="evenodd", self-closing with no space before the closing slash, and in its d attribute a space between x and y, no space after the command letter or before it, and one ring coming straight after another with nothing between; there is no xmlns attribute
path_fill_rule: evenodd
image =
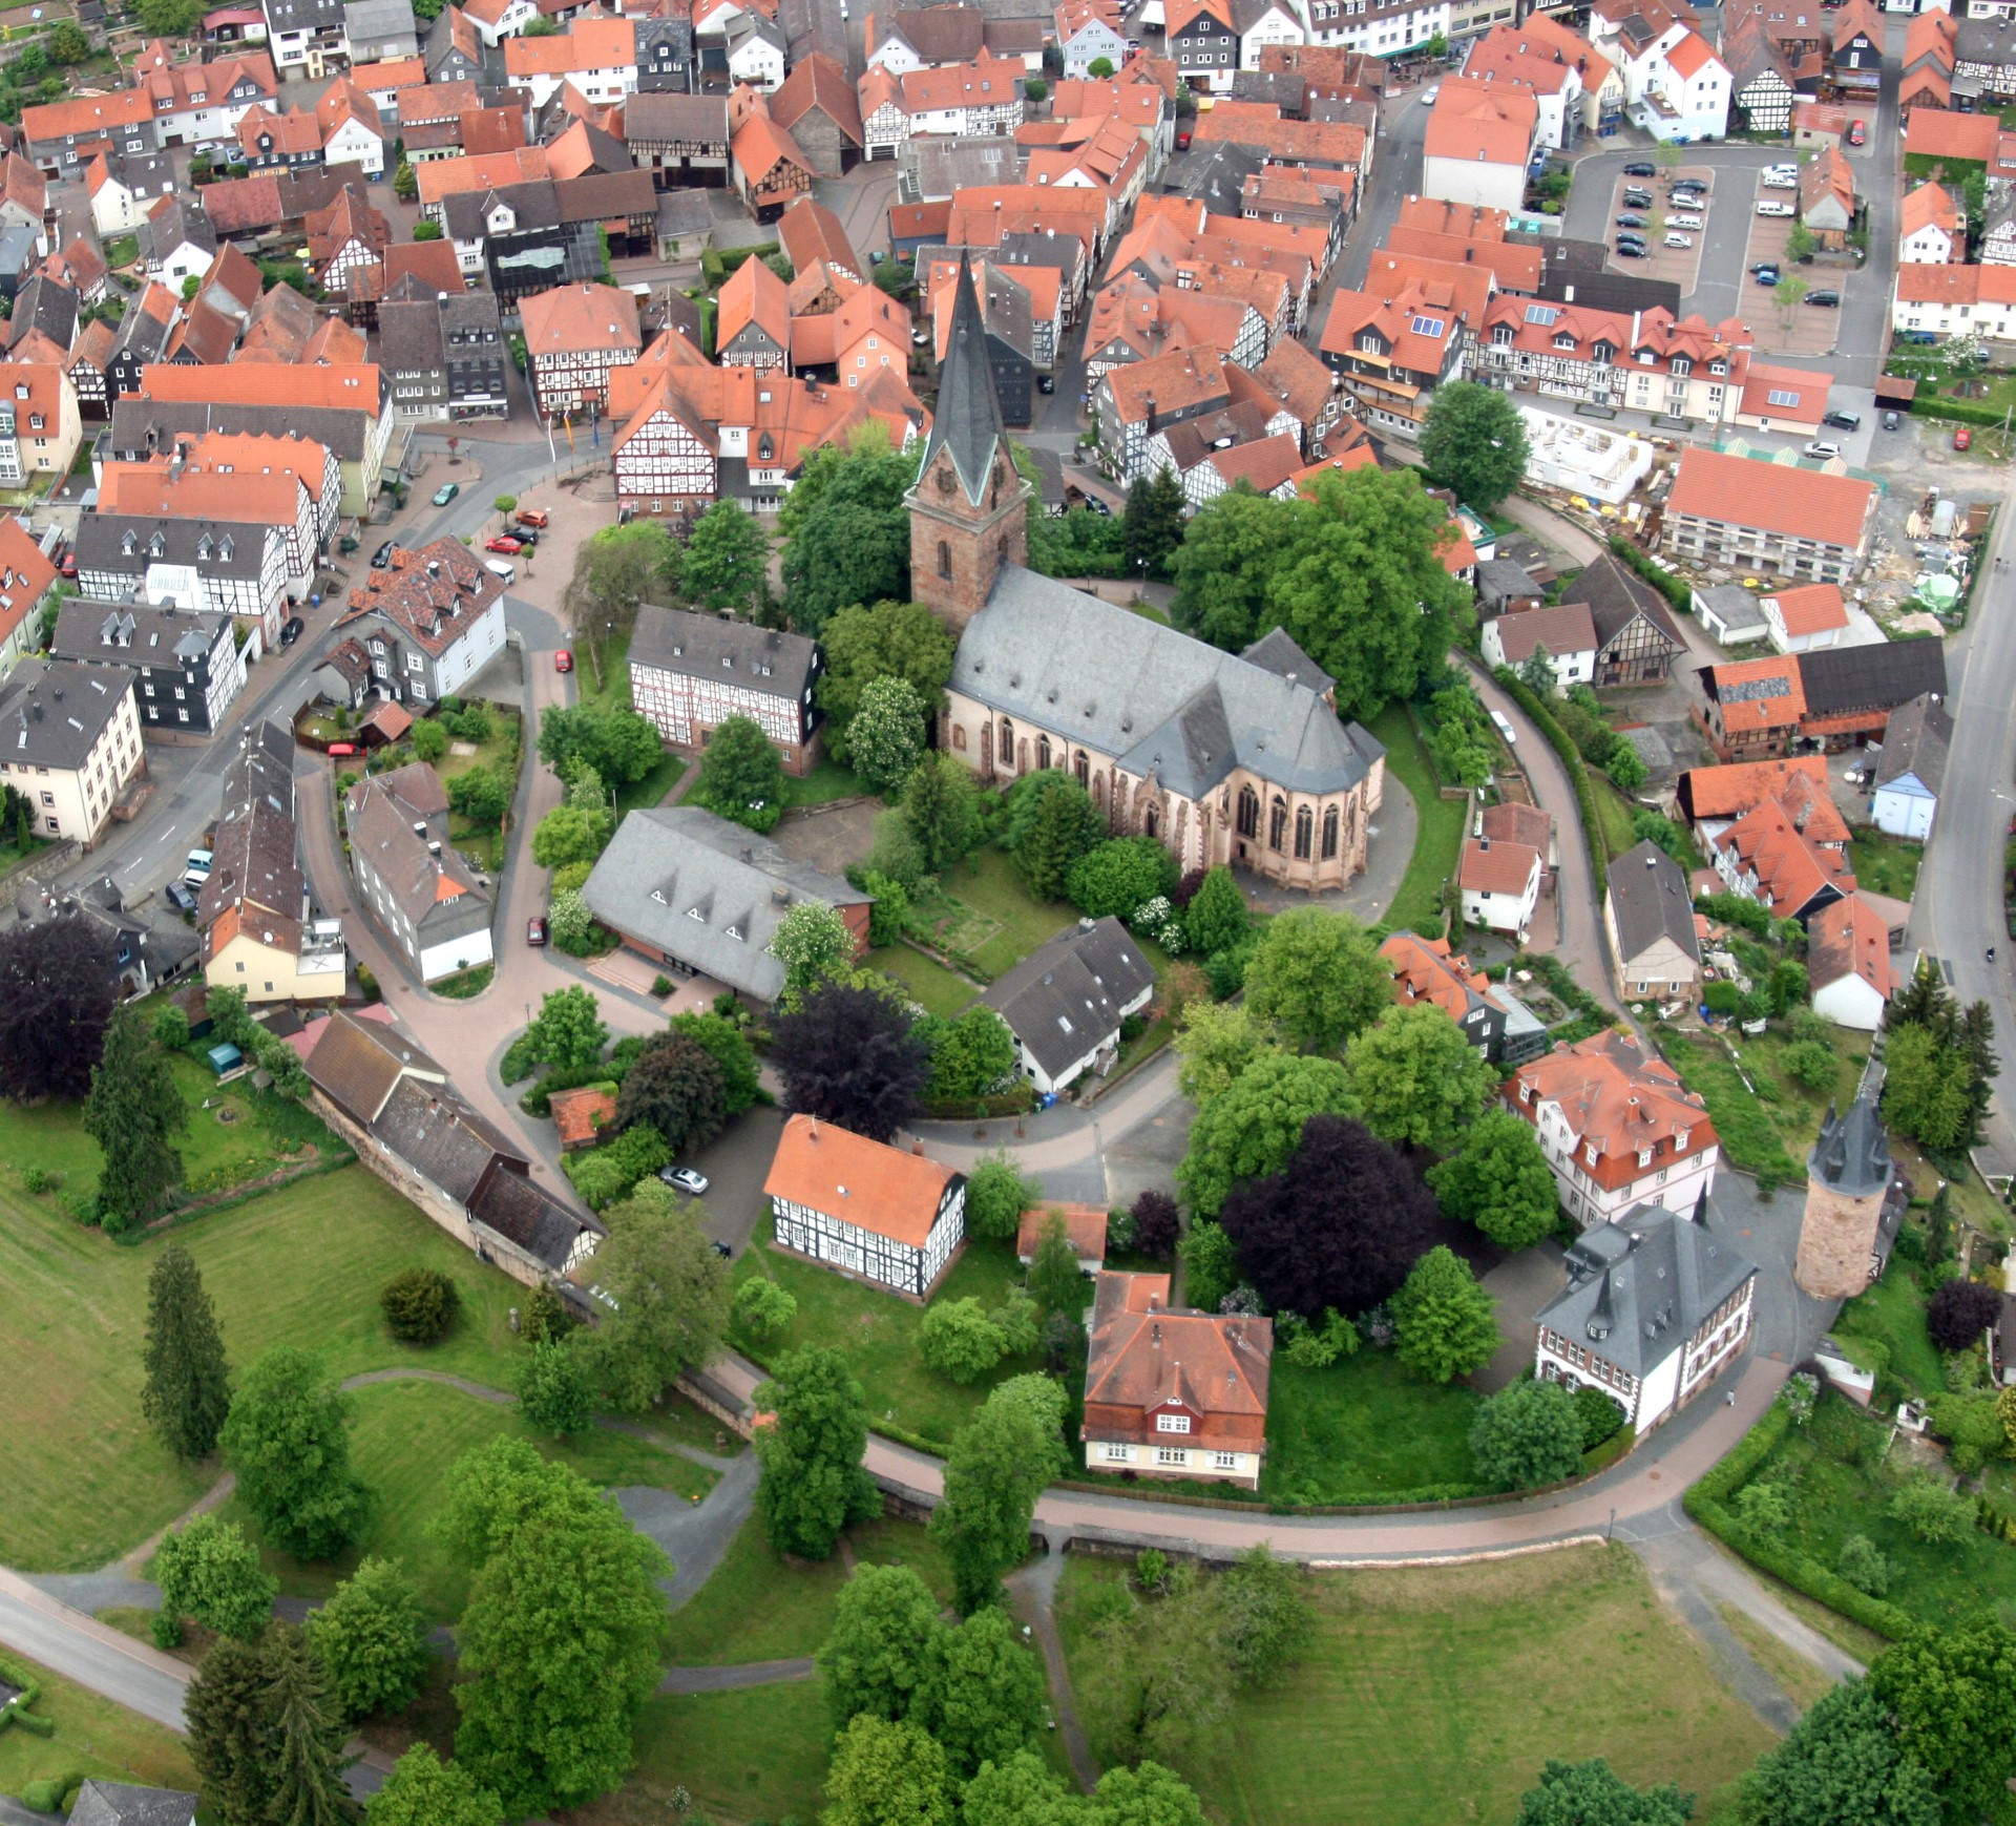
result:
<svg viewBox="0 0 2016 1826"><path fill-rule="evenodd" d="M357 889L423 984L490 963L490 893L448 842L448 790L425 762L367 774L343 796Z"/></svg>

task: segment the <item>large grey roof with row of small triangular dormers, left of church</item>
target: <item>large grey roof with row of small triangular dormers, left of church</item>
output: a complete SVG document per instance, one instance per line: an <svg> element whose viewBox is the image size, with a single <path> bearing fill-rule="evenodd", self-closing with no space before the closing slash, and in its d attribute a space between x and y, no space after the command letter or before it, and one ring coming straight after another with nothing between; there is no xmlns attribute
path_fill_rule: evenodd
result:
<svg viewBox="0 0 2016 1826"><path fill-rule="evenodd" d="M784 988L770 939L796 901L863 907L873 899L700 806L631 812L581 893L603 925L760 1002Z"/></svg>

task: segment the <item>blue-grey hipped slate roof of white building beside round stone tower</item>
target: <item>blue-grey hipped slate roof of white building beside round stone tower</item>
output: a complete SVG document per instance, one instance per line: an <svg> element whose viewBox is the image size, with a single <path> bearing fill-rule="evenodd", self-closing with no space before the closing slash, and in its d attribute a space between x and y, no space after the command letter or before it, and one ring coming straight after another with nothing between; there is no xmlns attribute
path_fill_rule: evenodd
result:
<svg viewBox="0 0 2016 1826"><path fill-rule="evenodd" d="M1568 1286L1538 1312L1564 1338L1643 1377L1685 1348L1702 1322L1756 1274L1730 1244L1708 1193L1689 1219L1661 1205L1633 1205L1615 1223L1593 1223L1568 1248Z"/></svg>

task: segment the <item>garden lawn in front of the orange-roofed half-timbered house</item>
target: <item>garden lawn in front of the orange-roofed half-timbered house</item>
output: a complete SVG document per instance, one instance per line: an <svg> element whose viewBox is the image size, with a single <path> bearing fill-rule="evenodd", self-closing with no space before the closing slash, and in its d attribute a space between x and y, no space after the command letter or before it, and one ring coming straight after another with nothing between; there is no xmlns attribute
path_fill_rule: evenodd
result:
<svg viewBox="0 0 2016 1826"><path fill-rule="evenodd" d="M996 1383L1038 1366L1034 1356L1010 1356L962 1389L950 1377L925 1368L917 1354L921 1306L772 1248L768 1217L758 1221L750 1248L736 1262L736 1280L752 1274L768 1274L798 1302L790 1328L760 1346L764 1360L806 1344L839 1350L869 1391L871 1421L887 1421L939 1445L952 1439ZM1020 1280L1014 1237L972 1237L931 1298L964 1300L974 1294L992 1308ZM748 1348L746 1338L738 1336L734 1342Z"/></svg>

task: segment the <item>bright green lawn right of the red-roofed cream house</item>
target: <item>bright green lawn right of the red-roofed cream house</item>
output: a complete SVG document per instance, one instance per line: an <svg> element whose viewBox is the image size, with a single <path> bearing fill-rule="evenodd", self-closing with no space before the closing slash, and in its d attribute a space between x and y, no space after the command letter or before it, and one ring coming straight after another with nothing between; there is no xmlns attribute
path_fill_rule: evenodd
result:
<svg viewBox="0 0 2016 1826"><path fill-rule="evenodd" d="M1260 1493L1377 1504L1433 1483L1474 1483L1476 1411L1474 1389L1421 1381L1391 1350L1359 1350L1327 1371L1296 1368L1276 1352Z"/></svg>

